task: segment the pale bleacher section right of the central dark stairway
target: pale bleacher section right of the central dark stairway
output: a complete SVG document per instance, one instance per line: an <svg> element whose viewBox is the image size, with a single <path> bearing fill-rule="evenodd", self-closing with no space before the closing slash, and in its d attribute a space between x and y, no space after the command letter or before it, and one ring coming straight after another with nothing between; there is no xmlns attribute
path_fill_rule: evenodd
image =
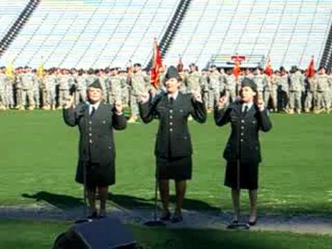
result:
<svg viewBox="0 0 332 249"><path fill-rule="evenodd" d="M308 66L331 26L329 0L200 0L190 5L165 63L179 54L205 67L213 54L270 55L273 66Z"/></svg>

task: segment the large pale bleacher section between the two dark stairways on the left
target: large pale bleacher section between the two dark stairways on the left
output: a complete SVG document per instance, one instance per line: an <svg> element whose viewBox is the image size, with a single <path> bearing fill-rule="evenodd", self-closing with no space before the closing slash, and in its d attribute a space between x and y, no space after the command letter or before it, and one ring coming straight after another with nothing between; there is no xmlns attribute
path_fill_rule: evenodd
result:
<svg viewBox="0 0 332 249"><path fill-rule="evenodd" d="M101 68L146 63L176 0L45 0L1 57L15 66ZM64 11L65 10L65 11Z"/></svg>

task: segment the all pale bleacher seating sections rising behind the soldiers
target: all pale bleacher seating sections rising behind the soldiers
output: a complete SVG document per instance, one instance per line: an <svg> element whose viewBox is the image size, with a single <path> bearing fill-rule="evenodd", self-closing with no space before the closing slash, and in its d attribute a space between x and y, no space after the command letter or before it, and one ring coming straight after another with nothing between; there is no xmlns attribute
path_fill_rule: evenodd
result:
<svg viewBox="0 0 332 249"><path fill-rule="evenodd" d="M1 1L6 33L28 2ZM44 0L0 64L104 68L147 64L156 37L169 25L176 0ZM64 8L65 7L65 8ZM308 65L322 57L332 24L330 0L194 0L164 58L205 67L215 55L270 55L273 66ZM6 15L5 15L6 14Z"/></svg>

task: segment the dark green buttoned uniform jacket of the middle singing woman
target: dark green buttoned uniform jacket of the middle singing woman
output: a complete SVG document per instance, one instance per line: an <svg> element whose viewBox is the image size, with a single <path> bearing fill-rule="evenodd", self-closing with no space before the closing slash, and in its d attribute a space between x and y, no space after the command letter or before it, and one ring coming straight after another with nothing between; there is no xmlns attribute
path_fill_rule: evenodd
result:
<svg viewBox="0 0 332 249"><path fill-rule="evenodd" d="M155 155L162 158L184 158L192 155L192 141L187 126L188 116L197 122L206 120L204 103L196 102L192 95L178 93L173 107L167 94L157 104L154 101L140 104L143 122L151 122L155 117L160 120L156 138Z"/></svg>

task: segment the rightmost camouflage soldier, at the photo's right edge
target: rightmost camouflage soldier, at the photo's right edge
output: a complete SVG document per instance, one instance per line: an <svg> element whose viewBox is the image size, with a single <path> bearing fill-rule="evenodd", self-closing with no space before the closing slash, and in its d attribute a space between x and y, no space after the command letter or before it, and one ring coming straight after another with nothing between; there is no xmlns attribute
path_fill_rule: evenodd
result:
<svg viewBox="0 0 332 249"><path fill-rule="evenodd" d="M331 108L330 89L332 86L331 78L326 75L324 66L318 69L314 78L315 85L315 113L326 111L329 113Z"/></svg>

